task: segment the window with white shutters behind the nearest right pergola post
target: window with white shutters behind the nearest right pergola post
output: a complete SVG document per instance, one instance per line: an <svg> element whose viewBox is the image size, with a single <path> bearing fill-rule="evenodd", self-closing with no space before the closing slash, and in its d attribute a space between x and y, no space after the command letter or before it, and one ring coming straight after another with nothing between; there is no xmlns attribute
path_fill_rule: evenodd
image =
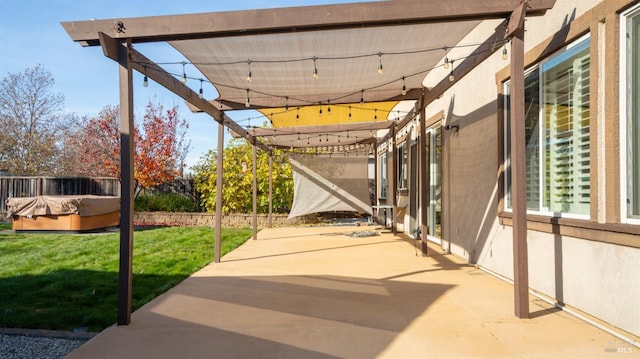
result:
<svg viewBox="0 0 640 359"><path fill-rule="evenodd" d="M525 77L527 209L588 215L590 205L589 39ZM509 84L505 93L509 103ZM511 208L509 108L505 119L507 208Z"/></svg>

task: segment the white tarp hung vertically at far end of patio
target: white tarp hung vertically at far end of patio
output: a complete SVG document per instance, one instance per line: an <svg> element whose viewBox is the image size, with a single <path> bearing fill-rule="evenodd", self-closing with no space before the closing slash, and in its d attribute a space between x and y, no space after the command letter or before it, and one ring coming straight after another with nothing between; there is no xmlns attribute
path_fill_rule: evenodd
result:
<svg viewBox="0 0 640 359"><path fill-rule="evenodd" d="M289 218L348 211L371 214L366 154L292 155L293 205Z"/></svg>

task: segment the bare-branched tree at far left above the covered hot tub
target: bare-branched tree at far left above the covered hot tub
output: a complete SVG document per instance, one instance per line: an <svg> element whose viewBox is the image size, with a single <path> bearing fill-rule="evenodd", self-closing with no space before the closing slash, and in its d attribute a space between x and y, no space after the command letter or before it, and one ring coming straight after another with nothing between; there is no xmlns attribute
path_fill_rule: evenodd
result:
<svg viewBox="0 0 640 359"><path fill-rule="evenodd" d="M64 97L40 65L8 74L0 82L0 167L21 175L52 174L61 134L73 118L63 112Z"/></svg>

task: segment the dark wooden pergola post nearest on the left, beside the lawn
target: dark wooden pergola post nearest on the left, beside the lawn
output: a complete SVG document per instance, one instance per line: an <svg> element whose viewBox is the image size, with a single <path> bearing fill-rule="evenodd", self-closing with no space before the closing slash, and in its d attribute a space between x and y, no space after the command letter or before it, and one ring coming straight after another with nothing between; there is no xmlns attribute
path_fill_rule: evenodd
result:
<svg viewBox="0 0 640 359"><path fill-rule="evenodd" d="M120 77L120 268L118 274L118 325L131 322L133 267L133 69L129 61L131 40L116 43Z"/></svg>

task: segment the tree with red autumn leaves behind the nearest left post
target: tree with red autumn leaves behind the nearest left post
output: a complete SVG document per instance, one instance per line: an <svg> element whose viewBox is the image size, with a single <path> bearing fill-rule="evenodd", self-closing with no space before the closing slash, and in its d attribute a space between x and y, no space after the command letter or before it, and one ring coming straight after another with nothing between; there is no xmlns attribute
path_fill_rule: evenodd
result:
<svg viewBox="0 0 640 359"><path fill-rule="evenodd" d="M72 147L78 154L79 172L85 176L120 177L120 108L106 106L95 118L84 119ZM177 106L164 111L149 102L142 126L134 122L135 194L143 188L172 181L181 175L189 143L188 124L178 117Z"/></svg>

